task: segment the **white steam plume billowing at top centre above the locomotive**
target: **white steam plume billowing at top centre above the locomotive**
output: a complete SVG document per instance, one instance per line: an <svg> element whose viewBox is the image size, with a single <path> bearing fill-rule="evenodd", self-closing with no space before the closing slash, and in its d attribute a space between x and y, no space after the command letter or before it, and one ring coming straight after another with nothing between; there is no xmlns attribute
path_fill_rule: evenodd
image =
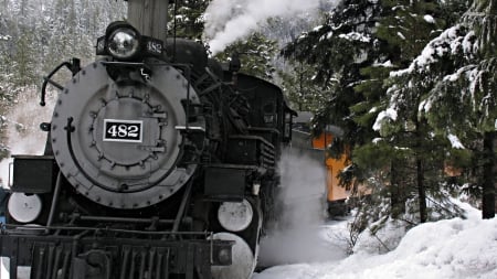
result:
<svg viewBox="0 0 497 279"><path fill-rule="evenodd" d="M319 4L320 0L213 0L205 11L204 37L216 54L269 18L314 13Z"/></svg>

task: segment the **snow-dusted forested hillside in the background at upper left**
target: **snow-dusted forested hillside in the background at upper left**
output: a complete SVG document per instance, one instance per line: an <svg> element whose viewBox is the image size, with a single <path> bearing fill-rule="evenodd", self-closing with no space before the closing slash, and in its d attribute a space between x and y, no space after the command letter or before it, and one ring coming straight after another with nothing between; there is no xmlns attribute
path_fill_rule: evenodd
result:
<svg viewBox="0 0 497 279"><path fill-rule="evenodd" d="M126 3L115 0L1 1L0 133L8 128L6 116L21 94L35 90L42 76L63 61L93 60L96 39L125 14ZM0 142L2 157L8 147L3 138Z"/></svg>

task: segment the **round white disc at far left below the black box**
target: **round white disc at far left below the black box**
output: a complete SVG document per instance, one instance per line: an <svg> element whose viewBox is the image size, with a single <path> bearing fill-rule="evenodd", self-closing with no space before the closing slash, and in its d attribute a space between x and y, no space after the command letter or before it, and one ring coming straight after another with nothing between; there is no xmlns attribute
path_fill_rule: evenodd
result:
<svg viewBox="0 0 497 279"><path fill-rule="evenodd" d="M31 223L42 212L42 201L39 195L12 193L7 204L10 216L19 223Z"/></svg>

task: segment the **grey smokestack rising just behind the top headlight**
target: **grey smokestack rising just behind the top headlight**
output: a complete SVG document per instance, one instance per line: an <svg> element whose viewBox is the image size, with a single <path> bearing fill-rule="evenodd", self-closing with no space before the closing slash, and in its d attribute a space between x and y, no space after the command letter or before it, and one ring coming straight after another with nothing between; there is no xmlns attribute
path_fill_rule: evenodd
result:
<svg viewBox="0 0 497 279"><path fill-rule="evenodd" d="M128 0L128 22L142 35L166 42L168 0Z"/></svg>

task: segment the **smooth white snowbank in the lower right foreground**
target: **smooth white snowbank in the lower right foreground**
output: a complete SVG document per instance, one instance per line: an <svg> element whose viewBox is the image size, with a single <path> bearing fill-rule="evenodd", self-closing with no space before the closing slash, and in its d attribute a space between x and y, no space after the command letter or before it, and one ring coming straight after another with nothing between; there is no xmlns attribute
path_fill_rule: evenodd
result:
<svg viewBox="0 0 497 279"><path fill-rule="evenodd" d="M253 279L495 279L497 218L480 219L479 211L467 204L462 206L466 219L419 225L390 253L357 251L327 262L277 266L254 275Z"/></svg>

